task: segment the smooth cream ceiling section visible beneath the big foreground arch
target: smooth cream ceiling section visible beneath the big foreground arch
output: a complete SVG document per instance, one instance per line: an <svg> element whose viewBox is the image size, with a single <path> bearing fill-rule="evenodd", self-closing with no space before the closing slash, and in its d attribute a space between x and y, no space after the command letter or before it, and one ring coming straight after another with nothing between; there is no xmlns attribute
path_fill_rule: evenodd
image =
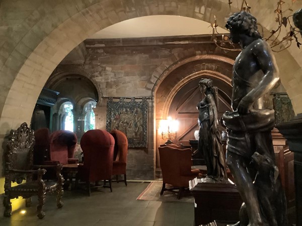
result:
<svg viewBox="0 0 302 226"><path fill-rule="evenodd" d="M229 33L217 27L219 34ZM211 23L189 17L154 15L138 17L111 25L95 33L90 39L162 37L180 35L208 35Z"/></svg>

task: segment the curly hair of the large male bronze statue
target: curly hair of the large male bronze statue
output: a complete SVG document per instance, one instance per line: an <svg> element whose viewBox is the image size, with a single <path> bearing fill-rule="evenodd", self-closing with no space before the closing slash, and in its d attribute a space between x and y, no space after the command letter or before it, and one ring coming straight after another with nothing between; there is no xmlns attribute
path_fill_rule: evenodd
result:
<svg viewBox="0 0 302 226"><path fill-rule="evenodd" d="M233 32L262 39L262 36L258 32L257 19L245 11L235 13L229 17L225 28Z"/></svg>

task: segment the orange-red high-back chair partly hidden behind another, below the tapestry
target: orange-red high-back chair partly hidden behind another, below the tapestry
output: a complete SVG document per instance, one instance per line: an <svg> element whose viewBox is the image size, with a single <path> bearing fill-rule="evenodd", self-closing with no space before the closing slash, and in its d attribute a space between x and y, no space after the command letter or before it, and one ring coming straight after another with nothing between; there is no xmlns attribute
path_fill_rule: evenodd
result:
<svg viewBox="0 0 302 226"><path fill-rule="evenodd" d="M114 161L112 168L112 175L116 175L116 181L118 175L124 174L124 183L127 186L126 180L126 165L127 165L127 153L128 153L128 140L126 135L119 130L112 130L110 134L113 136L114 144Z"/></svg>

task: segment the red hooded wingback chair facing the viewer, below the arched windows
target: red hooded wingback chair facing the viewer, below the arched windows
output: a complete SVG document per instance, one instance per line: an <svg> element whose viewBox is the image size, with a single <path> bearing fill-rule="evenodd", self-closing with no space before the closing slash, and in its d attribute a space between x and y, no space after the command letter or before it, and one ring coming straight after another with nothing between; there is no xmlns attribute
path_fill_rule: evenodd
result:
<svg viewBox="0 0 302 226"><path fill-rule="evenodd" d="M73 158L75 147L77 147L77 136L68 130L58 130L50 135L49 159L58 161L60 164L78 163L79 159Z"/></svg>

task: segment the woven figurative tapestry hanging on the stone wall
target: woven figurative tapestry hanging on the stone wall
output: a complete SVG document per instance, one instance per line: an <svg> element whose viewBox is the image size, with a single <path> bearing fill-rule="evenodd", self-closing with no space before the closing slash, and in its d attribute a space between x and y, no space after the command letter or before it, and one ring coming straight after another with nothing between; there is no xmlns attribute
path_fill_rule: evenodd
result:
<svg viewBox="0 0 302 226"><path fill-rule="evenodd" d="M107 131L122 131L128 139L129 148L147 147L147 124L148 102L145 99L135 101L132 97L130 102L112 101L107 102Z"/></svg>

